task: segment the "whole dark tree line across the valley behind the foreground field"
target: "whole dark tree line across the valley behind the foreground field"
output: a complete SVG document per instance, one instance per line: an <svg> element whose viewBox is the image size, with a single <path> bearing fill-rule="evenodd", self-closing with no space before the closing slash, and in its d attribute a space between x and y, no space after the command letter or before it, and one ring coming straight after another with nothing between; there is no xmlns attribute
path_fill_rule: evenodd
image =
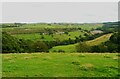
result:
<svg viewBox="0 0 120 79"><path fill-rule="evenodd" d="M99 35L98 35L99 36ZM97 36L96 36L97 37ZM95 37L94 37L95 38ZM114 33L110 40L97 46L88 46L83 40L91 38L84 37L76 40L66 40L63 42L56 41L31 41L17 39L6 32L2 33L2 53L32 53L32 52L49 52L49 49L57 45L67 45L79 42L76 46L77 52L120 52L120 33ZM64 52L64 51L62 51Z"/></svg>

